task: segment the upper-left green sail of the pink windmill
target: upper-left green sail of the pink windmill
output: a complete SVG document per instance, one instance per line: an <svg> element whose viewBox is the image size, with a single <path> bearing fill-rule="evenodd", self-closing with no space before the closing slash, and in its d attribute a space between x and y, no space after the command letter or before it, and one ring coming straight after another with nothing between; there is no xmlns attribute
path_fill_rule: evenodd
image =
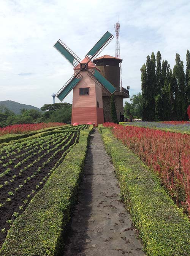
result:
<svg viewBox="0 0 190 256"><path fill-rule="evenodd" d="M62 40L58 40L54 47L60 52L74 67L80 63L81 59L68 48Z"/></svg>

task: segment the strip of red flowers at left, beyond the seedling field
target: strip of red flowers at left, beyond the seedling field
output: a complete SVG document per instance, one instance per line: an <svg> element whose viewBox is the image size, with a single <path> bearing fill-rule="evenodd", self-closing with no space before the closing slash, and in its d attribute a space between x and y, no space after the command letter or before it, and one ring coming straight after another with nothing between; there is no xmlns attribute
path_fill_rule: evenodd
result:
<svg viewBox="0 0 190 256"><path fill-rule="evenodd" d="M49 122L49 123L39 123L39 124L15 124L13 126L6 126L0 128L0 135L5 134L22 134L30 132L33 130L40 130L43 128L54 127L54 126L63 126L64 123L58 122Z"/></svg>

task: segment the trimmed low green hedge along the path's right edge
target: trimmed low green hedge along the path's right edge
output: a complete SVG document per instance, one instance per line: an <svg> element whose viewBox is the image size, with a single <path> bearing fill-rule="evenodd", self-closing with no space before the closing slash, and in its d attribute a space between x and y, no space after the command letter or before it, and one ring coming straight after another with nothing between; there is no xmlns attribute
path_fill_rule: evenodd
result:
<svg viewBox="0 0 190 256"><path fill-rule="evenodd" d="M190 223L169 198L160 180L141 160L112 135L99 127L112 158L121 196L142 238L147 256L187 256Z"/></svg>

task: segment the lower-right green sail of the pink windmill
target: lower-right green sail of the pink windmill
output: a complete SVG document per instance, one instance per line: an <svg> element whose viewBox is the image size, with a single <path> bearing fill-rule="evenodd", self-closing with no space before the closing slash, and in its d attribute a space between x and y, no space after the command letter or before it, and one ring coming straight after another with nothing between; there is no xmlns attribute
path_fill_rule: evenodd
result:
<svg viewBox="0 0 190 256"><path fill-rule="evenodd" d="M105 90L105 92L108 95L111 95L112 93L114 93L116 91L116 87L114 87L111 82L109 82L104 76L102 76L100 74L100 72L95 69L92 68L89 72L88 75L90 76L90 78L93 79L93 81L95 81L101 88L103 88Z"/></svg>

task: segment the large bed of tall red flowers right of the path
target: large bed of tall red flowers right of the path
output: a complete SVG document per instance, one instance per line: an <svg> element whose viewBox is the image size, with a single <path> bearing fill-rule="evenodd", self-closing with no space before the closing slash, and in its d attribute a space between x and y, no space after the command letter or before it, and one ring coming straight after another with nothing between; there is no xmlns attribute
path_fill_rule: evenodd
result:
<svg viewBox="0 0 190 256"><path fill-rule="evenodd" d="M109 127L109 124L106 126ZM190 213L190 135L114 126L114 136L159 173L172 198Z"/></svg>

